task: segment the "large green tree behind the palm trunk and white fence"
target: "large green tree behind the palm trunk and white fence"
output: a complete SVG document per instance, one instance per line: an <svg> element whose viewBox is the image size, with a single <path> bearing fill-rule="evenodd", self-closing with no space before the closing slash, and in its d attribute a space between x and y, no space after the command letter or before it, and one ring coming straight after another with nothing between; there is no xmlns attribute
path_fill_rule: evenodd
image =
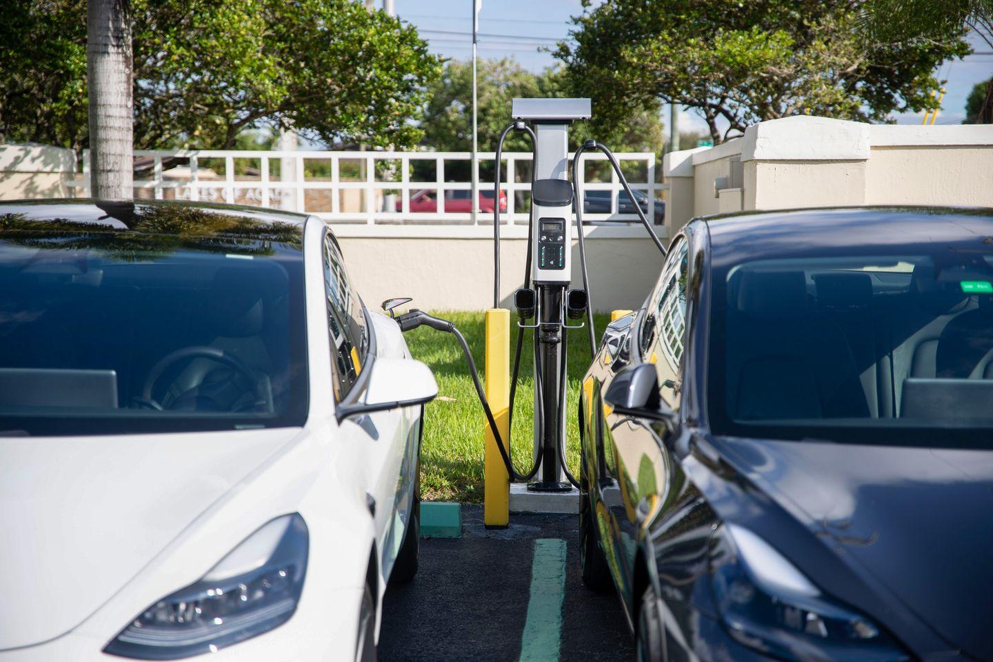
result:
<svg viewBox="0 0 993 662"><path fill-rule="evenodd" d="M85 0L0 22L0 138L88 146ZM230 148L244 130L409 146L440 60L350 0L132 0L135 147ZM411 120L415 120L412 122Z"/></svg>

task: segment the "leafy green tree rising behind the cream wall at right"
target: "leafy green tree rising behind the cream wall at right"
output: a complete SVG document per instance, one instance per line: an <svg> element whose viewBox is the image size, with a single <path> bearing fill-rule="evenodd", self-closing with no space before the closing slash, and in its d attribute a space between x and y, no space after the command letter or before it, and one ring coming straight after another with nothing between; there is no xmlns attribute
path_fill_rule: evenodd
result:
<svg viewBox="0 0 993 662"><path fill-rule="evenodd" d="M795 114L886 121L932 107L941 61L964 31L881 42L859 30L862 0L614 0L573 19L556 51L594 98L594 121L651 100L695 109L715 142ZM720 122L728 129L719 130Z"/></svg>

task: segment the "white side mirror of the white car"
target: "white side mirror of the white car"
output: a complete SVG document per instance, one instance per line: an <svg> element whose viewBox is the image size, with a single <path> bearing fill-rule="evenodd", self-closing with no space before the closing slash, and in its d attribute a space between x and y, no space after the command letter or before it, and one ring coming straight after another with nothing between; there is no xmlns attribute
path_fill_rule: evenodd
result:
<svg viewBox="0 0 993 662"><path fill-rule="evenodd" d="M438 382L424 363L412 358L377 358L372 362L365 397L339 405L339 423L347 418L387 409L423 405L438 395Z"/></svg>

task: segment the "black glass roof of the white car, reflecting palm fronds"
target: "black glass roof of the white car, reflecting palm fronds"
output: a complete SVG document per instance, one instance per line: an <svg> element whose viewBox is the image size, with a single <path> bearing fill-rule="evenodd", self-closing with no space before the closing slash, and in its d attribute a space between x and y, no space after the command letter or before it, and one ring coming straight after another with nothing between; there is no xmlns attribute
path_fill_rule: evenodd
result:
<svg viewBox="0 0 993 662"><path fill-rule="evenodd" d="M158 223L142 223L150 215L159 219L182 218L198 211L246 218L250 226L294 225L302 230L307 214L237 204L188 202L178 200L136 199L133 201L103 199L31 199L0 202L0 219L16 214L28 221L61 221L103 225L108 228L138 231L147 234L176 232L175 225L168 225L162 232ZM191 218L191 220L193 220ZM0 223L2 228L2 223ZM200 228L203 231L203 228ZM228 228L226 233L230 236ZM252 234L248 233L249 236Z"/></svg>

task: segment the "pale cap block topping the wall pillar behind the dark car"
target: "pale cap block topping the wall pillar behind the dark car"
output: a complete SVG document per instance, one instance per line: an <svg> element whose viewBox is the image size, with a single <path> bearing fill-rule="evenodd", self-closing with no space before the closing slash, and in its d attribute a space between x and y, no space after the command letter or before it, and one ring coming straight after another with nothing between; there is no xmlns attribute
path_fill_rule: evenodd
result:
<svg viewBox="0 0 993 662"><path fill-rule="evenodd" d="M753 124L745 130L742 161L864 161L869 125L796 115Z"/></svg>

